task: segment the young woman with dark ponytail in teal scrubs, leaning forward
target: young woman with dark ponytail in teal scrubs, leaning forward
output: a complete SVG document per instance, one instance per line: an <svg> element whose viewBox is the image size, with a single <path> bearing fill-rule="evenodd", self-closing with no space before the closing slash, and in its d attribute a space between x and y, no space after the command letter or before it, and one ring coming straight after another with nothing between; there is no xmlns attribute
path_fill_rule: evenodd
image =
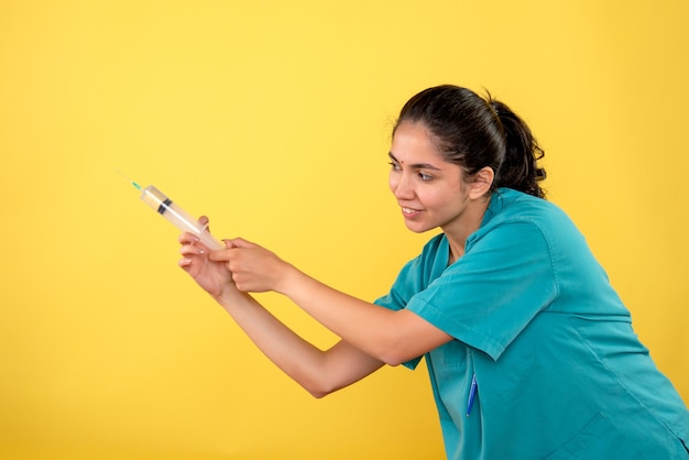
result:
<svg viewBox="0 0 689 460"><path fill-rule="evenodd" d="M455 86L402 109L390 187L440 228L374 304L242 239L179 265L314 396L426 358L449 459L689 458L689 412L583 237L544 199L543 155L504 103ZM201 218L207 221L206 218ZM341 340L321 351L248 293L291 298Z"/></svg>

